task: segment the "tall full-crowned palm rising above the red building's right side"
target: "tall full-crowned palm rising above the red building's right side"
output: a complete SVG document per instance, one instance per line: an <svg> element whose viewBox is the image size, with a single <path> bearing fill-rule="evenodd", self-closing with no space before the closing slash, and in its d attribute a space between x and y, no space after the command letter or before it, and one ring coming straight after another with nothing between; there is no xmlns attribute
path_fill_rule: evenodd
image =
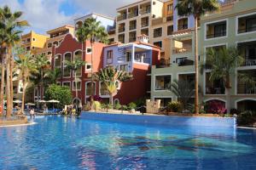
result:
<svg viewBox="0 0 256 170"><path fill-rule="evenodd" d="M90 40L91 45L91 55L90 55L90 61L91 61L91 88L94 89L94 83L93 83L93 46L95 42L107 42L108 33L105 30L105 27L101 26L100 21L96 21L94 18L88 18L84 20L83 26L79 28L77 31L77 37L79 39L79 42L84 43L86 40ZM82 45L83 46L83 45ZM83 54L82 54L83 55ZM94 95L94 91L91 91L91 96ZM92 97L90 98L92 101Z"/></svg>

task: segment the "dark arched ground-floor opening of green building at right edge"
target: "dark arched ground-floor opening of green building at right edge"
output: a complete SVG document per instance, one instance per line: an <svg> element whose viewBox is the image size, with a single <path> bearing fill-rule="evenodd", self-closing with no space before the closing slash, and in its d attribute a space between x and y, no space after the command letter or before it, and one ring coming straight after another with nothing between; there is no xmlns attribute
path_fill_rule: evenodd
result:
<svg viewBox="0 0 256 170"><path fill-rule="evenodd" d="M256 99L236 100L236 109L239 111L256 111Z"/></svg>

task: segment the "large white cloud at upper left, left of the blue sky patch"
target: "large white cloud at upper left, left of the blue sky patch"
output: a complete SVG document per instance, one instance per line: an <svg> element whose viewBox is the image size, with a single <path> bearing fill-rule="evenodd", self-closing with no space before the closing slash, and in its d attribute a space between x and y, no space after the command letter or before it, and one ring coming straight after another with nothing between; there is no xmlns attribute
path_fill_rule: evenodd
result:
<svg viewBox="0 0 256 170"><path fill-rule="evenodd" d="M17 0L0 0L0 4L8 5L12 10L23 11L23 18L32 26L31 29L45 33L57 26L73 24L73 16L66 16L59 10L63 1L24 0L20 4Z"/></svg>

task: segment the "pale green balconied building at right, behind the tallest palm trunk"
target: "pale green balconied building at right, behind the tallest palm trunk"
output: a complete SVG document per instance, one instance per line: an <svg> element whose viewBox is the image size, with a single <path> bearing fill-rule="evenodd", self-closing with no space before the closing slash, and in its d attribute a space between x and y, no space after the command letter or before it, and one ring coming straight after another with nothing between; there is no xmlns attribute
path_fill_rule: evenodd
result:
<svg viewBox="0 0 256 170"><path fill-rule="evenodd" d="M173 28L171 36L171 62L170 66L156 65L151 71L151 99L161 99L161 105L176 100L177 97L170 91L174 80L187 80L194 82L194 27L193 18L180 25L174 12ZM185 19L185 20L187 20ZM181 29L184 27L186 29ZM256 88L239 81L239 73L250 73L256 79L256 3L250 0L224 1L217 13L201 16L199 28L199 62L203 64L207 60L207 48L221 48L236 46L245 58L244 65L236 69L231 78L231 103L230 108L242 110L255 110ZM164 68L162 68L164 67ZM224 81L209 80L209 70L200 73L199 85L201 102L220 101L225 105L226 95ZM193 103L191 99L191 103Z"/></svg>

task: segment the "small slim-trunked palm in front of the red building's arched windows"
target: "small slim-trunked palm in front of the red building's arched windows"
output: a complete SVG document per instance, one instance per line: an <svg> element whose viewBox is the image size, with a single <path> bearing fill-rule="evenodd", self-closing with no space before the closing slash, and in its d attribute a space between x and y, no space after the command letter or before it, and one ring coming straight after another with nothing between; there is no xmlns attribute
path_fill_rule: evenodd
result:
<svg viewBox="0 0 256 170"><path fill-rule="evenodd" d="M74 81L75 81L75 88L76 88L76 98L78 98L78 81L77 81L77 71L81 69L83 65L85 65L86 62L84 62L81 59L73 59L73 61L65 61L65 65L67 65L67 69L69 71L73 71L74 73Z"/></svg>

